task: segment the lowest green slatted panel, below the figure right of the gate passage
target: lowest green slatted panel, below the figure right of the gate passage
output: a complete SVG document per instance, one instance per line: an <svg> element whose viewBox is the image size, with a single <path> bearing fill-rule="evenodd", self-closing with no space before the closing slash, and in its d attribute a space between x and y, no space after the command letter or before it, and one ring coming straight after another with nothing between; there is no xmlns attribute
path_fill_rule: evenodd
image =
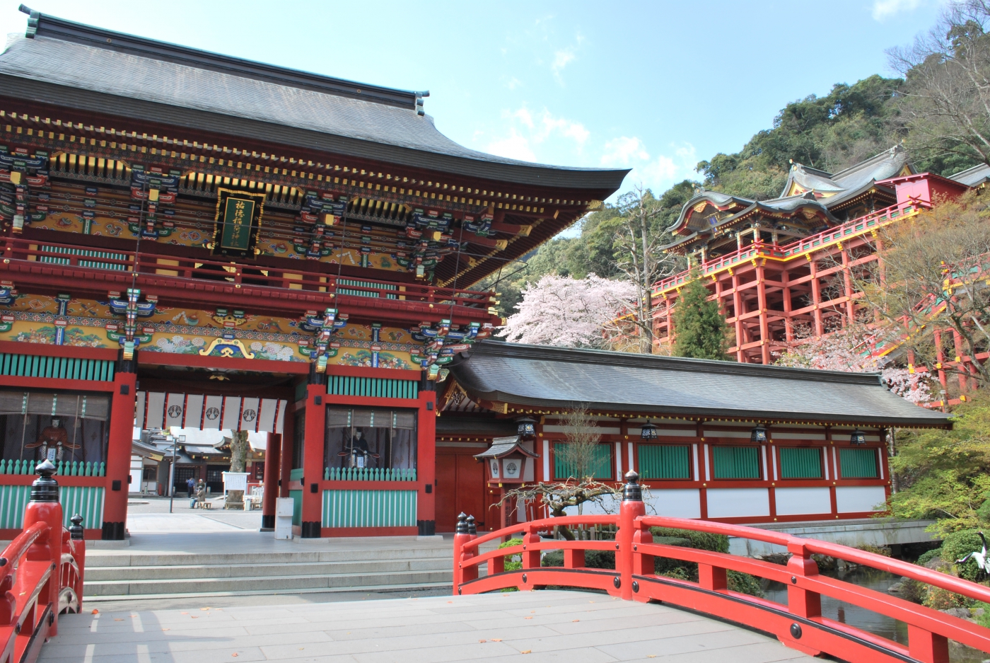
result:
<svg viewBox="0 0 990 663"><path fill-rule="evenodd" d="M415 527L416 491L324 491L324 527Z"/></svg>

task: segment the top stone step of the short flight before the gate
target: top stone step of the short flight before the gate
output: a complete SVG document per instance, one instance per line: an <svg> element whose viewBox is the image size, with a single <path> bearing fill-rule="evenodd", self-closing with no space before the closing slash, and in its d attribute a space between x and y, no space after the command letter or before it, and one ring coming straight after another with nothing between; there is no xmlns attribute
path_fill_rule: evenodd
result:
<svg viewBox="0 0 990 663"><path fill-rule="evenodd" d="M131 553L124 550L86 551L86 568L161 567L227 564L299 564L313 562L388 561L396 559L446 558L452 563L449 545L406 549L305 550L258 553Z"/></svg>

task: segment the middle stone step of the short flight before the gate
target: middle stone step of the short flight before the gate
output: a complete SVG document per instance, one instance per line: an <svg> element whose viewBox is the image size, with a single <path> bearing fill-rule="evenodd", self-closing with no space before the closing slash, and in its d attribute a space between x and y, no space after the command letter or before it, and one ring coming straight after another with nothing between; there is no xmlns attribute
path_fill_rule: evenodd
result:
<svg viewBox="0 0 990 663"><path fill-rule="evenodd" d="M88 560L87 560L88 562ZM90 566L86 581L192 580L197 578L249 578L290 575L388 573L392 571L439 571L450 569L447 557L395 560L348 560L341 562L284 562L275 564L169 564L164 566Z"/></svg>

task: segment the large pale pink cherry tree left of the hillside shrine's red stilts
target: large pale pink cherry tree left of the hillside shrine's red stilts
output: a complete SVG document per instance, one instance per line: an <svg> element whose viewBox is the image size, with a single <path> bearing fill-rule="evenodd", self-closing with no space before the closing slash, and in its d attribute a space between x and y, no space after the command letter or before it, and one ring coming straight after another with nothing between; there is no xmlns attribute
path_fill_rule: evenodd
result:
<svg viewBox="0 0 990 663"><path fill-rule="evenodd" d="M616 320L634 310L636 296L628 280L547 275L527 284L518 312L497 333L512 343L602 347Z"/></svg>

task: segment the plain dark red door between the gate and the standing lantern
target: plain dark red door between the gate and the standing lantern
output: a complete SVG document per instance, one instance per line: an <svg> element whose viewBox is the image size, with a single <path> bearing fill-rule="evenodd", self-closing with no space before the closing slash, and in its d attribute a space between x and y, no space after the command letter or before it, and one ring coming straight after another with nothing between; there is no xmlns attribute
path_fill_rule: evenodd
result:
<svg viewBox="0 0 990 663"><path fill-rule="evenodd" d="M452 532L461 512L473 515L478 529L488 528L485 467L470 452L438 453L437 531Z"/></svg>

